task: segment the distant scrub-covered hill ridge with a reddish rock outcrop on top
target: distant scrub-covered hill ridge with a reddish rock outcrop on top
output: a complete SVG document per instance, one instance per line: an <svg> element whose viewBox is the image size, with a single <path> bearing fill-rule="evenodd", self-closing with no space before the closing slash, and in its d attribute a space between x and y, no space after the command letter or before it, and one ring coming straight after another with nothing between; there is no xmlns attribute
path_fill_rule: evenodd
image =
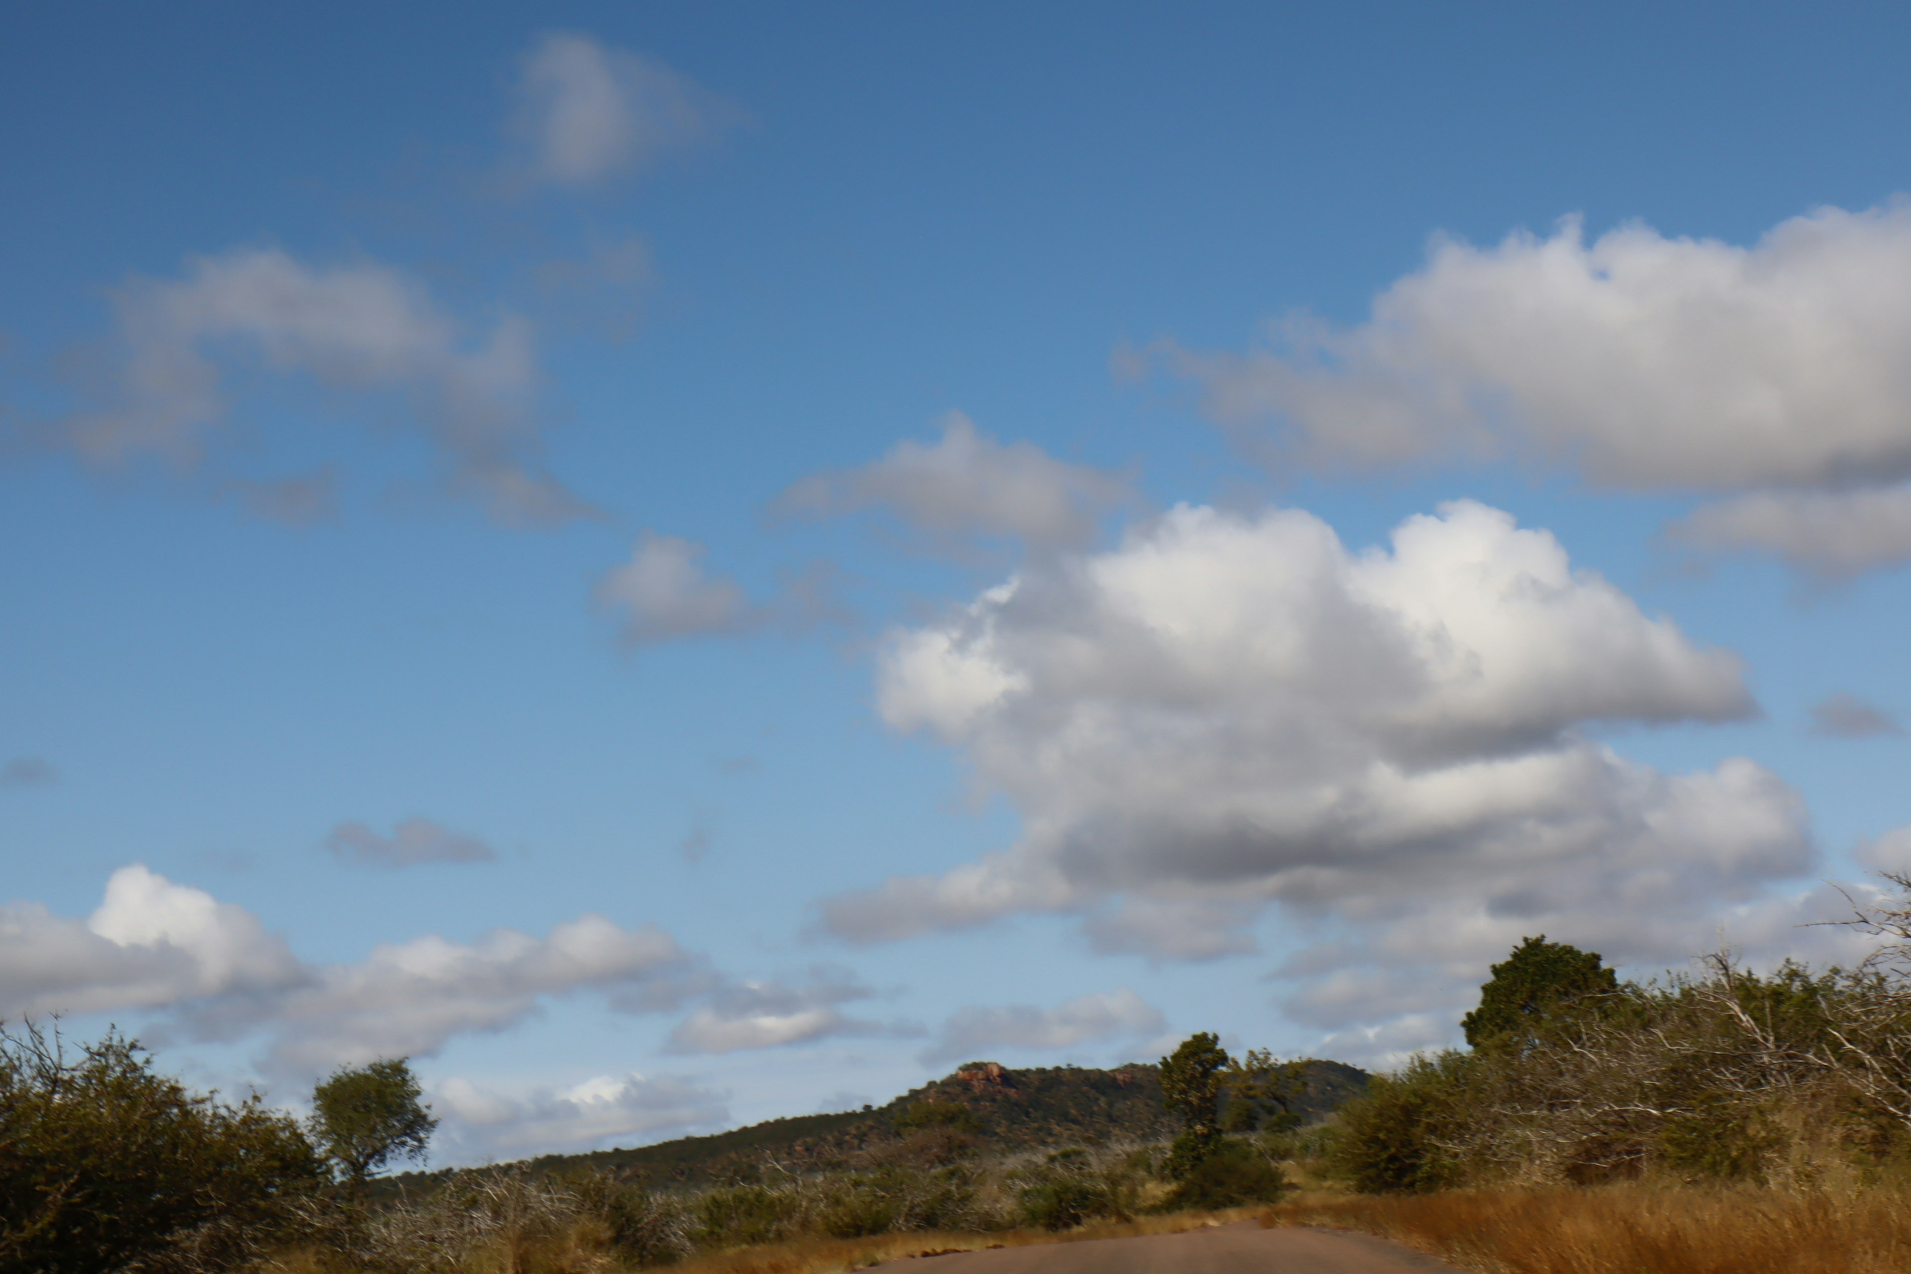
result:
<svg viewBox="0 0 1911 1274"><path fill-rule="evenodd" d="M1303 1066L1307 1087L1296 1100L1296 1114L1303 1119L1324 1117L1366 1087L1368 1075L1357 1066L1326 1060ZM690 1188L755 1180L772 1163L806 1173L898 1157L944 1159L1045 1146L1145 1142L1173 1133L1162 1110L1154 1066L1009 1070L996 1062L967 1062L871 1110L766 1119L631 1150L541 1156L524 1167L537 1173L596 1169L654 1188Z"/></svg>

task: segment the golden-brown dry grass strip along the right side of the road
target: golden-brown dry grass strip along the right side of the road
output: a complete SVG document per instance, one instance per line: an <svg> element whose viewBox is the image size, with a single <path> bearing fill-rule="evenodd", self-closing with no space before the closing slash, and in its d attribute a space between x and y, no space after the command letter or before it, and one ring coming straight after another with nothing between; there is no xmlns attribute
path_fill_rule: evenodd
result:
<svg viewBox="0 0 1911 1274"><path fill-rule="evenodd" d="M1280 1203L1261 1224L1364 1230L1481 1274L1911 1270L1901 1190L1456 1190Z"/></svg>

